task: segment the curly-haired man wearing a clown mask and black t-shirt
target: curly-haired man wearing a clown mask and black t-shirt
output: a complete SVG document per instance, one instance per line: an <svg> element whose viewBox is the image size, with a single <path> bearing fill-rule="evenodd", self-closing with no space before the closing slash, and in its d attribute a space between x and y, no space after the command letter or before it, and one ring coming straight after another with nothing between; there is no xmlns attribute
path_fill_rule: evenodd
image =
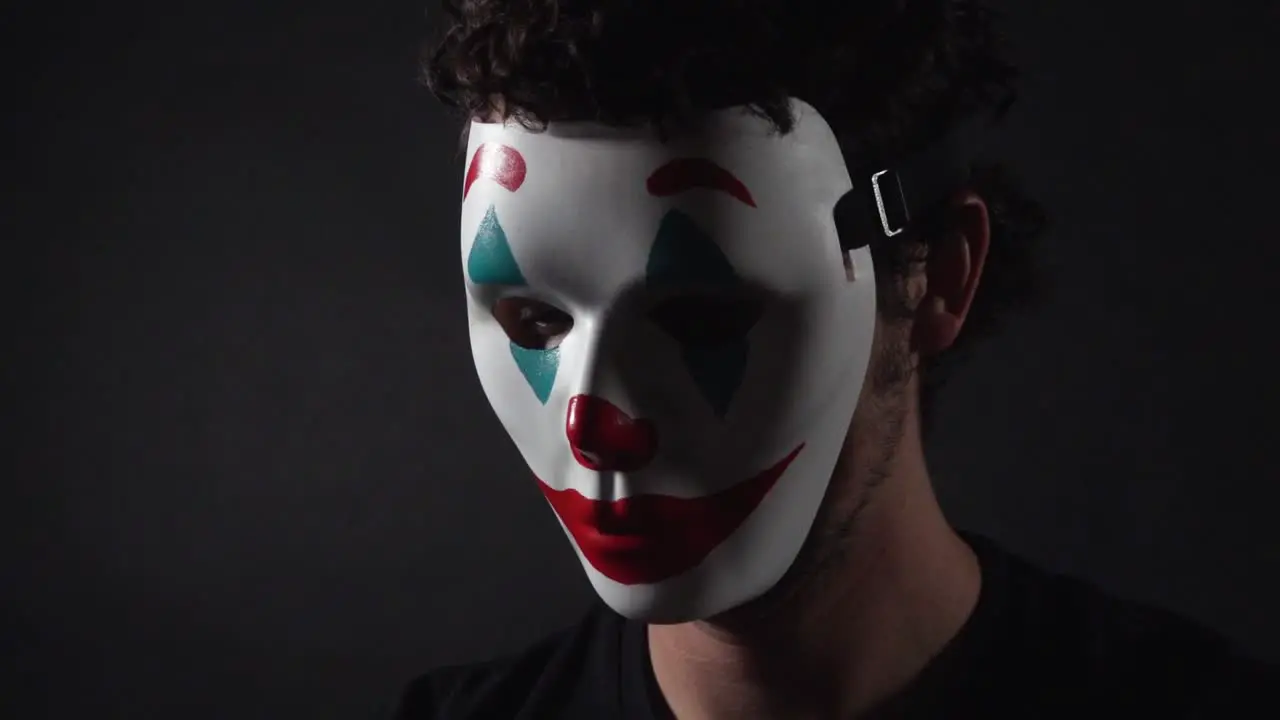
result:
<svg viewBox="0 0 1280 720"><path fill-rule="evenodd" d="M480 382L603 603L406 720L1266 716L1212 633L954 530L942 361L1039 209L973 0L451 0Z"/></svg>

